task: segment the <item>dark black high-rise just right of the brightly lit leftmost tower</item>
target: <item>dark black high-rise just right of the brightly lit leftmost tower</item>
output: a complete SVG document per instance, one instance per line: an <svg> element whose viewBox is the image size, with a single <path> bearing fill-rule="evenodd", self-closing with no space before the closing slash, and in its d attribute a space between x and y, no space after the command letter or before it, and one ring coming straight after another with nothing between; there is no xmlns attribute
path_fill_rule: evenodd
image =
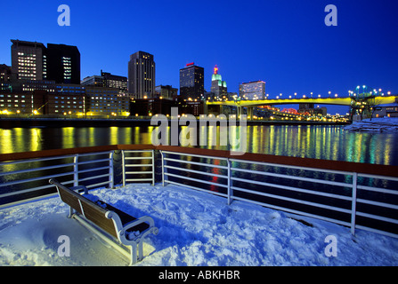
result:
<svg viewBox="0 0 398 284"><path fill-rule="evenodd" d="M80 52L76 46L47 43L47 80L55 83L80 83Z"/></svg>

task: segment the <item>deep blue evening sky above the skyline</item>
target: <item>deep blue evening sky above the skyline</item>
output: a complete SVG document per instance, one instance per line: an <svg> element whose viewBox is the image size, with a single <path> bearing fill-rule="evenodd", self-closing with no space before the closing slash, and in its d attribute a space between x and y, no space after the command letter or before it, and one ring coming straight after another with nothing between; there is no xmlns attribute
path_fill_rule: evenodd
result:
<svg viewBox="0 0 398 284"><path fill-rule="evenodd" d="M69 27L58 26L60 4L70 7ZM324 23L328 4L337 27ZM82 79L101 69L126 76L130 54L147 51L157 85L179 88L179 69L193 61L207 91L217 65L228 91L264 80L270 98L345 96L362 84L398 93L396 0L18 0L0 11L0 64L11 65L10 39L20 39L76 45Z"/></svg>

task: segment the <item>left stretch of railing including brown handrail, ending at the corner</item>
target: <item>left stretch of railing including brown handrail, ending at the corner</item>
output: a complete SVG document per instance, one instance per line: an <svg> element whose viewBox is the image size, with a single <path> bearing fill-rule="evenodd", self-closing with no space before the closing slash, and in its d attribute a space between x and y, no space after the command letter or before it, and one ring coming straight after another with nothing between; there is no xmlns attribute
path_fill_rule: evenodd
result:
<svg viewBox="0 0 398 284"><path fill-rule="evenodd" d="M54 195L54 186L48 184L52 177L56 177L63 185L85 185L88 189L105 185L112 188L118 175L115 173L118 168L115 155L120 152L123 158L123 185L134 181L151 181L154 184L155 155L151 148L153 147L147 145L117 145L0 154L0 208ZM141 154L142 157L129 156L133 153ZM151 162L134 165L130 160ZM142 169L145 166L149 166L150 171L126 170L129 167ZM146 178L137 175L148 173L150 177Z"/></svg>

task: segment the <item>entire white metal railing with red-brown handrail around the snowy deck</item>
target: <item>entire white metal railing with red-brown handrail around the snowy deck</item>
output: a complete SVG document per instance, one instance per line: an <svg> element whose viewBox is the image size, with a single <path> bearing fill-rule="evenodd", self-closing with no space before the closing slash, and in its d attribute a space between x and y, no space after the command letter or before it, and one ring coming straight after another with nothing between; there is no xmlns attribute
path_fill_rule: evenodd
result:
<svg viewBox="0 0 398 284"><path fill-rule="evenodd" d="M115 165L115 154L122 165ZM161 167L155 166L161 162ZM119 162L119 161L118 161ZM398 167L324 161L180 146L114 145L0 154L0 201L45 195L61 177L66 185L113 187L156 182L183 185L292 214L398 237ZM161 168L161 170L158 170ZM161 172L159 172L161 171ZM40 175L39 175L40 173ZM34 185L14 190L22 184ZM36 197L35 197L36 198Z"/></svg>

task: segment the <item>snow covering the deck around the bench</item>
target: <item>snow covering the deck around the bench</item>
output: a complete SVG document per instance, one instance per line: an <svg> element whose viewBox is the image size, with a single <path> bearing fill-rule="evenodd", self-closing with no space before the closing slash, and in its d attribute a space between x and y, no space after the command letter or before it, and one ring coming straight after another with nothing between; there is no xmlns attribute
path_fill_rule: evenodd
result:
<svg viewBox="0 0 398 284"><path fill-rule="evenodd" d="M149 215L158 235L146 238L136 265L398 265L398 240L180 186L127 185L90 193L135 217ZM76 220L59 198L0 210L0 265L127 265ZM292 218L295 217L295 218ZM296 219L305 220L299 222ZM69 236L70 256L58 237ZM325 242L333 236L334 242ZM335 245L337 256L327 256Z"/></svg>

